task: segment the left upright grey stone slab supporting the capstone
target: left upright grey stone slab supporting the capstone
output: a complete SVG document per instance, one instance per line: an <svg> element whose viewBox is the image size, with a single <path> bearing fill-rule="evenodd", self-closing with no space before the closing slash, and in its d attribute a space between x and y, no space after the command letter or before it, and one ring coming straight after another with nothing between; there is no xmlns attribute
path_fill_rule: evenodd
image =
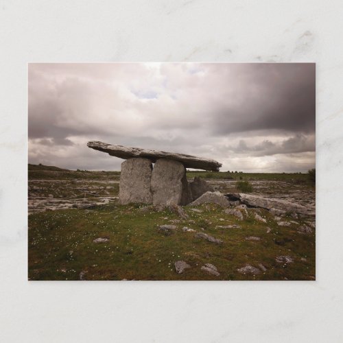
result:
<svg viewBox="0 0 343 343"><path fill-rule="evenodd" d="M151 204L152 162L147 158L129 158L121 163L119 202Z"/></svg>

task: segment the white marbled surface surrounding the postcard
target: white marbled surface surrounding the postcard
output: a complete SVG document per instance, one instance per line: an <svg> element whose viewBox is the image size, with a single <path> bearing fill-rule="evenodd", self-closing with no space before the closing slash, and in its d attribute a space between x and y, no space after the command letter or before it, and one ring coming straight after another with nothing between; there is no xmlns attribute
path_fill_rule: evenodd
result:
<svg viewBox="0 0 343 343"><path fill-rule="evenodd" d="M342 1L0 1L1 342L342 342L342 23ZM68 61L316 62L317 281L28 282L27 62Z"/></svg>

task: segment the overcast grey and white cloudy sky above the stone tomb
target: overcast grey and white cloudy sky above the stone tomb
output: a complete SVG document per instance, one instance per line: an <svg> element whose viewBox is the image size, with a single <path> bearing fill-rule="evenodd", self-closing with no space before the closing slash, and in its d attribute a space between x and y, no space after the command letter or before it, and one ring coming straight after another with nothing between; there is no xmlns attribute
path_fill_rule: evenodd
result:
<svg viewBox="0 0 343 343"><path fill-rule="evenodd" d="M221 171L315 167L315 64L29 64L29 163L120 170L88 141L213 158Z"/></svg>

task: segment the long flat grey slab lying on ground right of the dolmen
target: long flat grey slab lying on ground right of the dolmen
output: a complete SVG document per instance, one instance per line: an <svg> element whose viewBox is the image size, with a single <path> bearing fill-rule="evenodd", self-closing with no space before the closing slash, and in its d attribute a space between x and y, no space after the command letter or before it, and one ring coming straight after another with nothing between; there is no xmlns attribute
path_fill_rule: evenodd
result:
<svg viewBox="0 0 343 343"><path fill-rule="evenodd" d="M253 196L246 193L226 193L225 196L229 200L239 200L243 204L252 207L261 207L262 209L276 209L281 212L294 212L309 215L309 211L305 206L295 204L285 200L276 200L272 198L265 198L263 196Z"/></svg>

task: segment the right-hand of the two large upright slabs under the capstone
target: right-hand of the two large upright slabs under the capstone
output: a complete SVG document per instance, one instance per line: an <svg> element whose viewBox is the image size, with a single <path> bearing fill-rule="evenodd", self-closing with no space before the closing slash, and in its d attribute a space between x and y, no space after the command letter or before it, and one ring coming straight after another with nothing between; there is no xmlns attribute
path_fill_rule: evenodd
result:
<svg viewBox="0 0 343 343"><path fill-rule="evenodd" d="M186 168L178 161L157 160L152 169L150 189L153 204L185 205L191 202Z"/></svg>

